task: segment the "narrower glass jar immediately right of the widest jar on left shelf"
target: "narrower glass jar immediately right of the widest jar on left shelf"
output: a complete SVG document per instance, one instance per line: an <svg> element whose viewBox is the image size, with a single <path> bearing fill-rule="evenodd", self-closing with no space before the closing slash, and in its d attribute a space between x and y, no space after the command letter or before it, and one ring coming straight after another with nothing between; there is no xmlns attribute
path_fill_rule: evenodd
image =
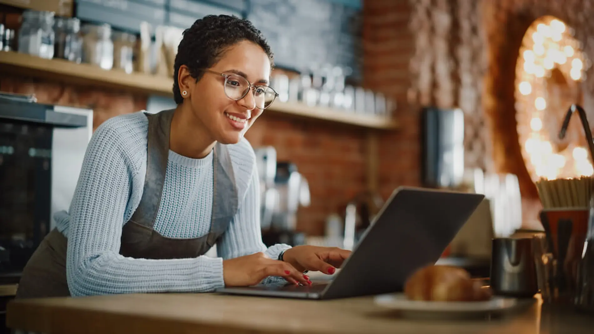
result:
<svg viewBox="0 0 594 334"><path fill-rule="evenodd" d="M80 63L83 61L83 39L80 36L80 20L72 17L56 17L53 24L56 34L55 58Z"/></svg>

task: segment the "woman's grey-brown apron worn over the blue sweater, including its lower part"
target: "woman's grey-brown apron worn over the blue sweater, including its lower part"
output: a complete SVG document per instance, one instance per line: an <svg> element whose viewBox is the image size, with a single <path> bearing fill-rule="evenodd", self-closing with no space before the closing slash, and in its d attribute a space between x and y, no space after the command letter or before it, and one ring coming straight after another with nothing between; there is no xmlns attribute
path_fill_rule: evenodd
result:
<svg viewBox="0 0 594 334"><path fill-rule="evenodd" d="M153 229L159 211L169 157L173 110L146 114L149 119L147 170L143 195L132 218L122 227L119 253L136 259L182 259L204 255L225 233L238 210L229 151L217 143L213 156L213 208L210 231L191 239L168 238ZM16 298L66 297L67 238L55 228L39 244L23 269Z"/></svg>

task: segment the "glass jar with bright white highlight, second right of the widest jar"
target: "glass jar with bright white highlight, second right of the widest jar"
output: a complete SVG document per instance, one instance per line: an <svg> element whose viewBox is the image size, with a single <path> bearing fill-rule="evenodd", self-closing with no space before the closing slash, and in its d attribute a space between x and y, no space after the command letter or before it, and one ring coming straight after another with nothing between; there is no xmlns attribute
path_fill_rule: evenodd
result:
<svg viewBox="0 0 594 334"><path fill-rule="evenodd" d="M109 24L84 24L83 62L103 69L113 68L112 29Z"/></svg>

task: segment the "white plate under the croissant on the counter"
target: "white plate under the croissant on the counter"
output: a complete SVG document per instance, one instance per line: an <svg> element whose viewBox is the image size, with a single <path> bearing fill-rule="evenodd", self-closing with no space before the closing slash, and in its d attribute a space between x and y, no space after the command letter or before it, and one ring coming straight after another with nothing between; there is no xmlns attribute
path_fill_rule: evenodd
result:
<svg viewBox="0 0 594 334"><path fill-rule="evenodd" d="M487 301L417 301L408 300L405 294L384 294L374 298L375 304L401 311L407 317L476 317L505 313L532 303L534 299L519 300L494 296Z"/></svg>

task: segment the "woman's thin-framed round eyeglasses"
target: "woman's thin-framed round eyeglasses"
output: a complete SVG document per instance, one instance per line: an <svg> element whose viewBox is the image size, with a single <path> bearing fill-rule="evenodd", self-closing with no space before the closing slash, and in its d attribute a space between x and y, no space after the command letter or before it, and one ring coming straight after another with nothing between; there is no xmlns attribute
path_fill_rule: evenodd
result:
<svg viewBox="0 0 594 334"><path fill-rule="evenodd" d="M225 74L211 71L210 69L203 69L203 71L220 75L225 78L225 84L223 84L225 95L232 100L241 100L248 94L250 88L252 88L255 107L258 109L264 110L267 107L270 107L270 104L273 103L274 99L279 96L279 93L276 93L272 87L266 85L252 85L249 83L248 79L238 74Z"/></svg>

